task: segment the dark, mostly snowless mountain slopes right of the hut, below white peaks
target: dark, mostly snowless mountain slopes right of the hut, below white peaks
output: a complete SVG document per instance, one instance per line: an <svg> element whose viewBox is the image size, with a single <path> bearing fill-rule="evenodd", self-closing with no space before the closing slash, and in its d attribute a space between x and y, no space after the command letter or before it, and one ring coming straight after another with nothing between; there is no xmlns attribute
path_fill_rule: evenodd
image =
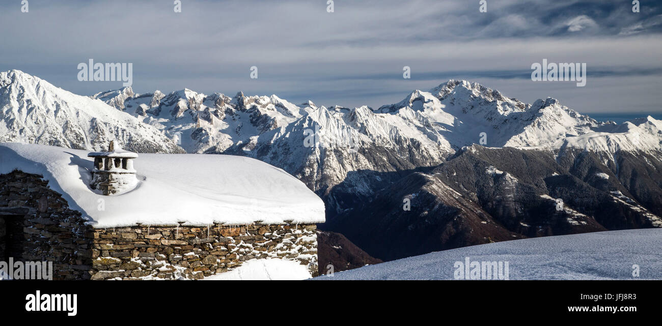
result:
<svg viewBox="0 0 662 326"><path fill-rule="evenodd" d="M385 260L522 237L662 227L661 168L660 153L472 145L324 227Z"/></svg>

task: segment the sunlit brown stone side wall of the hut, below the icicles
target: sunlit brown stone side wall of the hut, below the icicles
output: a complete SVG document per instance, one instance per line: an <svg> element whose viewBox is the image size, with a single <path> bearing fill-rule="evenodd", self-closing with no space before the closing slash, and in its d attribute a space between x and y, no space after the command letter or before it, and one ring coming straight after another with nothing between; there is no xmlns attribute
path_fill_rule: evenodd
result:
<svg viewBox="0 0 662 326"><path fill-rule="evenodd" d="M200 279L250 259L287 259L317 274L316 225L97 229L93 280Z"/></svg>

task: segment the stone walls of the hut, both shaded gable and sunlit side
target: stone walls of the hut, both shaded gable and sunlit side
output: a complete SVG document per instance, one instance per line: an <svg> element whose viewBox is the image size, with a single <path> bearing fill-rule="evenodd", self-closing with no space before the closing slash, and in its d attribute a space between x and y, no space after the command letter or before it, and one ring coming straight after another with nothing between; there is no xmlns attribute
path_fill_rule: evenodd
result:
<svg viewBox="0 0 662 326"><path fill-rule="evenodd" d="M53 261L54 279L200 279L250 259L318 272L316 225L134 225L94 229L39 175L0 175L0 207L28 207L21 261Z"/></svg>

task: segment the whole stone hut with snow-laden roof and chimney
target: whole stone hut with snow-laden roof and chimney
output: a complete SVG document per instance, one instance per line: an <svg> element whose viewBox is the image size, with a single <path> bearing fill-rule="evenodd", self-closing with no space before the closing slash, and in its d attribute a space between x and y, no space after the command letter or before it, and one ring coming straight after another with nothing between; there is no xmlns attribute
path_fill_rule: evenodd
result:
<svg viewBox="0 0 662 326"><path fill-rule="evenodd" d="M213 278L273 259L315 276L322 222L305 184L247 157L0 143L0 261L52 262L54 279Z"/></svg>

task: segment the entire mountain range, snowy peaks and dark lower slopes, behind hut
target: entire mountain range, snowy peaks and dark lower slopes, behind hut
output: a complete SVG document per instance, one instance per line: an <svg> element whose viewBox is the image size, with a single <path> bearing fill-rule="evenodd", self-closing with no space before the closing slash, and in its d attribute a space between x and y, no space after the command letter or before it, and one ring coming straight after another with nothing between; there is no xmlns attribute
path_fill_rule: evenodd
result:
<svg viewBox="0 0 662 326"><path fill-rule="evenodd" d="M468 81L373 110L189 89L83 97L13 70L0 74L0 110L0 142L99 149L117 139L281 167L326 202L322 229L384 260L662 227L661 121L598 122L552 98L525 104Z"/></svg>

